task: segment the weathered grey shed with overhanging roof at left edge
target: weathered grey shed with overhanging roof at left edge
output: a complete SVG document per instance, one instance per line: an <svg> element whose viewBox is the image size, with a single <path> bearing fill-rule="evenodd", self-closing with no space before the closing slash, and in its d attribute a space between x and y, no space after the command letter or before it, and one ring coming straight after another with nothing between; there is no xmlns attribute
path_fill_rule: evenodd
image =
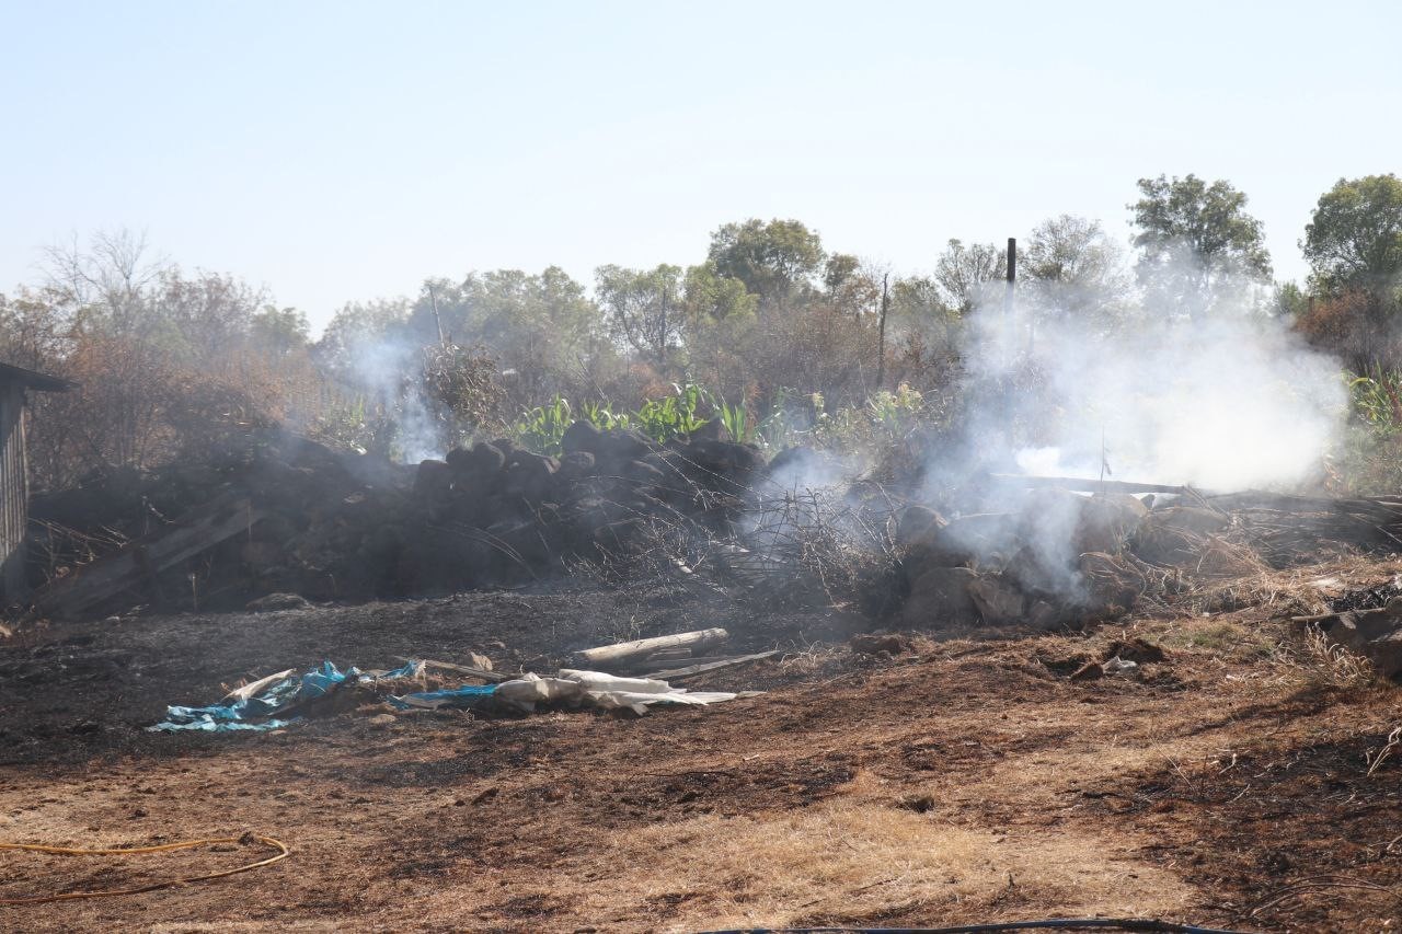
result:
<svg viewBox="0 0 1402 934"><path fill-rule="evenodd" d="M25 390L66 393L67 380L0 363L0 604L24 599L24 537L29 523L29 460L24 447Z"/></svg>

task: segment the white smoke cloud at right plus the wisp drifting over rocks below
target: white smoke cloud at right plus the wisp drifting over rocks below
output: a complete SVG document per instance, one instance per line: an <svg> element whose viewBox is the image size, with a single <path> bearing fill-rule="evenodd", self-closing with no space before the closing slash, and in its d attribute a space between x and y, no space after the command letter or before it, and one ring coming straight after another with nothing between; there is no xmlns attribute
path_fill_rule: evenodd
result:
<svg viewBox="0 0 1402 934"><path fill-rule="evenodd" d="M1235 491L1300 487L1345 431L1340 363L1266 314L1258 283L1161 271L1138 296L991 287L967 320L952 438L930 452L930 502L981 473L1137 480ZM1196 296L1175 287L1207 285ZM1032 592L1087 595L1082 503L1066 491L984 489L951 543ZM998 515L967 515L969 512Z"/></svg>

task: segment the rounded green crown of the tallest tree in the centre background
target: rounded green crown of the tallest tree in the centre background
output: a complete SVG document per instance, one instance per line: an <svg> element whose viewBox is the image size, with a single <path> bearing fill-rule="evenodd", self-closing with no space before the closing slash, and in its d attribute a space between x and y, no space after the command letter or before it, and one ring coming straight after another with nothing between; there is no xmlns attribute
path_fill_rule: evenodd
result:
<svg viewBox="0 0 1402 934"><path fill-rule="evenodd" d="M771 307L787 304L809 286L826 254L817 233L798 220L751 217L711 234L707 258L716 273L739 279Z"/></svg>

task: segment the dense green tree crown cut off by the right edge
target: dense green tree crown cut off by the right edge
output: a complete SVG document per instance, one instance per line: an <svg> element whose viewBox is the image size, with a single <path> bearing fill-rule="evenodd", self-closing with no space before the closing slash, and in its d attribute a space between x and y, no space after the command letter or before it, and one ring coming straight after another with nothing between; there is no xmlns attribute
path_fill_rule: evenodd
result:
<svg viewBox="0 0 1402 934"><path fill-rule="evenodd" d="M1388 296L1402 276L1402 180L1340 178L1319 196L1300 247L1325 295Z"/></svg>

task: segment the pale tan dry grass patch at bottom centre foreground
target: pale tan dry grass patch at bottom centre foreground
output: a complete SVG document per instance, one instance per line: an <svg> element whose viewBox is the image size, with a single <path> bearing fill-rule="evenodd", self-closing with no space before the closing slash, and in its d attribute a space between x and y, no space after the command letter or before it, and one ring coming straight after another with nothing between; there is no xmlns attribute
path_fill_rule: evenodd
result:
<svg viewBox="0 0 1402 934"><path fill-rule="evenodd" d="M868 780L871 781L871 780ZM864 784L858 778L855 785ZM958 906L998 916L1000 906L1033 899L1136 914L1147 892L1162 896L1171 878L1133 868L1103 841L1073 834L1008 834L956 826L869 792L789 813L707 815L608 841L627 868L589 909L688 900L688 923L705 927L799 926L857 921L916 912L938 919ZM1035 853L1033 853L1035 848ZM1133 878L1131 874L1150 878ZM695 899L695 900L691 900ZM666 926L665 926L666 927Z"/></svg>

